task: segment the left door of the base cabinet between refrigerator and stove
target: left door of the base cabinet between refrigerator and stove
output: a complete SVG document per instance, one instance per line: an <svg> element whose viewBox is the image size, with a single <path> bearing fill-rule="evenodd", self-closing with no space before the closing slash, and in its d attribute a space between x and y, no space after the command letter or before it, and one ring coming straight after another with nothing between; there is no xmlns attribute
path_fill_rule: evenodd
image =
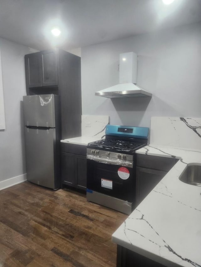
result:
<svg viewBox="0 0 201 267"><path fill-rule="evenodd" d="M61 152L62 182L70 186L75 186L75 168L75 155Z"/></svg>

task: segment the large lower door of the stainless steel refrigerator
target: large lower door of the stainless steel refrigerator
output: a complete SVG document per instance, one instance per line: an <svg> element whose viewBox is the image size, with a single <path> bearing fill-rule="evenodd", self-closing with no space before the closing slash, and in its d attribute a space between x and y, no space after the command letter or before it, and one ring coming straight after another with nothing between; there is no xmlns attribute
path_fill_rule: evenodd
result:
<svg viewBox="0 0 201 267"><path fill-rule="evenodd" d="M27 181L55 189L55 128L25 127Z"/></svg>

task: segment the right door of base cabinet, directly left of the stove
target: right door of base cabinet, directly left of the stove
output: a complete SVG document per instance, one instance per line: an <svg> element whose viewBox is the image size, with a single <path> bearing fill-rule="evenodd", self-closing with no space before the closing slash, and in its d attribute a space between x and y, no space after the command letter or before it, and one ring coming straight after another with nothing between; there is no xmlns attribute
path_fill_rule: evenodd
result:
<svg viewBox="0 0 201 267"><path fill-rule="evenodd" d="M76 160L76 187L86 189L87 186L87 157L75 155Z"/></svg>

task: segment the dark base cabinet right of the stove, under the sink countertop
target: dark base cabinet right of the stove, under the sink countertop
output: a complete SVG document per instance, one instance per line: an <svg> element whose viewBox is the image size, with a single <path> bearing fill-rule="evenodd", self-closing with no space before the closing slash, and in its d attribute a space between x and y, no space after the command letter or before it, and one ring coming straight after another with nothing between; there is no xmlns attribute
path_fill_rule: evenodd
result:
<svg viewBox="0 0 201 267"><path fill-rule="evenodd" d="M137 154L136 206L142 202L177 161L175 158Z"/></svg>

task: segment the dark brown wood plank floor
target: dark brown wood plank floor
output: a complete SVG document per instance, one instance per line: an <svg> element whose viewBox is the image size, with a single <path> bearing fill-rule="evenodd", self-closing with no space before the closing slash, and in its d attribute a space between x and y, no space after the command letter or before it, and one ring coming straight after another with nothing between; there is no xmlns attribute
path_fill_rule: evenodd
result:
<svg viewBox="0 0 201 267"><path fill-rule="evenodd" d="M111 235L127 217L70 189L9 187L0 191L0 266L116 266Z"/></svg>

